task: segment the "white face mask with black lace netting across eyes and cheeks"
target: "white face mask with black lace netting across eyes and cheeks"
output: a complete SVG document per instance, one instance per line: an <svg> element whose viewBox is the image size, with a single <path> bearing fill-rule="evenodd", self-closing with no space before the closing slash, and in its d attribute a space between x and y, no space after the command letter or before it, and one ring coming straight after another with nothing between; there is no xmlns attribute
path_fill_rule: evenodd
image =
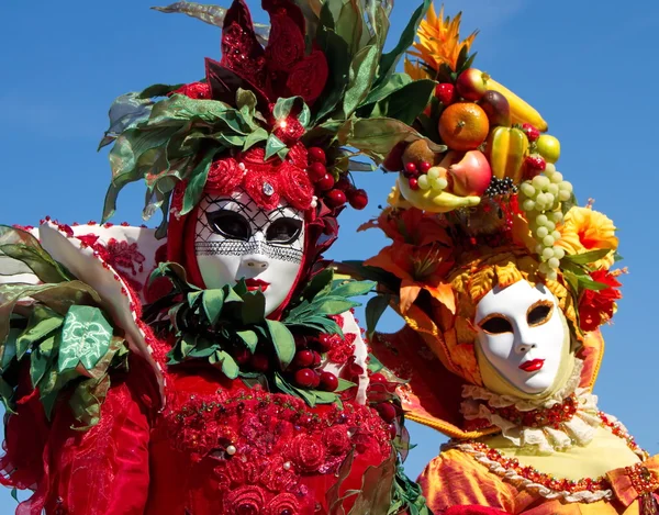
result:
<svg viewBox="0 0 659 515"><path fill-rule="evenodd" d="M259 208L243 190L231 197L205 195L199 206L194 253L206 288L245 279L266 298L266 315L288 296L302 264L304 220L280 204Z"/></svg>

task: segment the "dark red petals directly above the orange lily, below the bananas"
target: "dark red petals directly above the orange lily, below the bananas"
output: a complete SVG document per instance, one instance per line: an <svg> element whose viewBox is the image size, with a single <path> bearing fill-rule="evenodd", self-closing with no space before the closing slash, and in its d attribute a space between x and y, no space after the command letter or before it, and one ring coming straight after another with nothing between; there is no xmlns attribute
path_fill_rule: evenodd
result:
<svg viewBox="0 0 659 515"><path fill-rule="evenodd" d="M425 214L415 208L396 210L387 208L377 220L359 226L357 231L378 227L395 243L424 246L440 243L451 246L453 240L433 214Z"/></svg>

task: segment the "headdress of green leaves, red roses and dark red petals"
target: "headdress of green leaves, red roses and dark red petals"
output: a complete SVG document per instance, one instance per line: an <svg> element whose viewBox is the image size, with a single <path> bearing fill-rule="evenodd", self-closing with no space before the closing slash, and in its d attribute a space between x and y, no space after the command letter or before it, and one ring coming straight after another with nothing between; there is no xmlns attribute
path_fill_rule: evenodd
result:
<svg viewBox="0 0 659 515"><path fill-rule="evenodd" d="M101 142L114 144L104 219L121 189L142 179L144 217L158 209L165 214L160 236L167 214L190 213L204 188L242 187L264 208L280 198L315 213L336 214L347 201L364 208L366 192L349 171L371 167L354 158L379 164L395 144L422 137L410 124L435 82L394 69L428 4L390 53L383 52L390 1L264 0L270 27L255 27L243 0L228 10L192 2L158 8L222 26L223 56L206 59L199 82L116 99Z"/></svg>

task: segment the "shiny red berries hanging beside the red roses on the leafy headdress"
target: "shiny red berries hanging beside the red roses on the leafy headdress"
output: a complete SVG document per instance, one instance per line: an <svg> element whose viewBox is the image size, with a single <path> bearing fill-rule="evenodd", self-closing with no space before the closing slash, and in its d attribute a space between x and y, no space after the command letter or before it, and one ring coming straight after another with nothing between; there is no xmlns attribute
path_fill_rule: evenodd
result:
<svg viewBox="0 0 659 515"><path fill-rule="evenodd" d="M320 147L309 149L309 177L315 184L315 193L323 198L328 208L336 209L346 202L356 209L362 210L368 204L366 191L356 189L347 176L334 179L332 173L327 172L327 157L325 150Z"/></svg>

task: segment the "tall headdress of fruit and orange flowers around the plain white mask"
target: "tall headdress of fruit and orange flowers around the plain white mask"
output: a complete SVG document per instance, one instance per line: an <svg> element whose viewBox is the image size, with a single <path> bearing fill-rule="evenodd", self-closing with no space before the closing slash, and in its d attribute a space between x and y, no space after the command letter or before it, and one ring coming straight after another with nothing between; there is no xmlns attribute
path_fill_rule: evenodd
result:
<svg viewBox="0 0 659 515"><path fill-rule="evenodd" d="M376 320L392 303L407 322L403 333L421 334L426 350L455 374L442 374L436 361L432 367L423 360L403 363L420 354L411 348L410 333L399 334L398 347L390 342L378 350L386 365L395 369L398 362L427 380L411 382L406 407L412 418L421 410L413 401L417 395L435 415L421 410L416 419L465 436L456 428L458 404L446 407L446 402L453 402L447 399L454 391L460 399L459 389L451 390L456 376L482 385L474 351L478 302L494 287L522 279L545 284L566 316L578 356L585 359L582 379L590 387L602 351L597 328L615 312L623 270L612 269L618 260L613 222L591 202L577 204L572 186L556 168L559 143L546 134L547 123L472 67L476 34L460 41L458 27L459 16L443 19L431 9L406 61L414 78L438 82L414 126L445 152L417 141L390 154L384 167L400 173L390 206L362 228L379 227L393 242L364 264L348 266L380 283L382 295L371 300L367 318ZM396 349L390 360L388 348ZM453 384L437 383L440 377L454 378L447 379ZM450 424L428 422L435 418Z"/></svg>

